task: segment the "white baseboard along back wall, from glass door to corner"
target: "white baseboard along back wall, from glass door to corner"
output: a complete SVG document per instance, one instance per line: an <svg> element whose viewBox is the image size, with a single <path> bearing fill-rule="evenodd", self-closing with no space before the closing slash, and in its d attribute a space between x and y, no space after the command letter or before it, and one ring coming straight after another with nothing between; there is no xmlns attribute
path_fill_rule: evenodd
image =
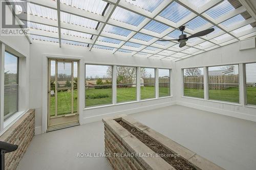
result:
<svg viewBox="0 0 256 170"><path fill-rule="evenodd" d="M172 106L175 104L176 104L176 102L166 102L166 103L161 103L161 104L156 104L156 105L151 105L151 106L138 107L138 108L127 109L127 110L122 110L122 111L117 111L117 112L112 112L112 113L107 113L107 114L101 114L101 115L96 115L96 116L91 116L91 117L84 117L82 119L82 122L80 122L80 125L88 124L88 123L92 123L92 122L98 122L102 118L114 116L114 115L118 115L118 114L133 114L133 113L138 113L138 112L142 112L142 111L158 109L161 107Z"/></svg>

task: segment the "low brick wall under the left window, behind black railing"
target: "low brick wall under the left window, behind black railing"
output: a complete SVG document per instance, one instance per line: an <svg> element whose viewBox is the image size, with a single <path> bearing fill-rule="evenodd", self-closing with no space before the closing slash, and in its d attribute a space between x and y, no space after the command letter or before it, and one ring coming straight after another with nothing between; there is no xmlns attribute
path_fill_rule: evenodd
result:
<svg viewBox="0 0 256 170"><path fill-rule="evenodd" d="M1 141L17 144L18 149L5 154L5 169L16 169L34 136L35 110L20 117L2 136Z"/></svg>

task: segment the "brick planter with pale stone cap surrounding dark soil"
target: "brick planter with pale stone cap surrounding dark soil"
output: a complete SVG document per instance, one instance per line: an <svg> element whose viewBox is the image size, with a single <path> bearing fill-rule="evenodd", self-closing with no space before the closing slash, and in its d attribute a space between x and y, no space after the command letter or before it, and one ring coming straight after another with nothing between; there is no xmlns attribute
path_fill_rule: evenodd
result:
<svg viewBox="0 0 256 170"><path fill-rule="evenodd" d="M105 154L109 155L106 158L113 169L175 169L164 159L157 157L153 150L118 124L117 122L120 120L147 134L162 144L165 149L179 155L196 169L223 169L127 115L102 119L105 134Z"/></svg>

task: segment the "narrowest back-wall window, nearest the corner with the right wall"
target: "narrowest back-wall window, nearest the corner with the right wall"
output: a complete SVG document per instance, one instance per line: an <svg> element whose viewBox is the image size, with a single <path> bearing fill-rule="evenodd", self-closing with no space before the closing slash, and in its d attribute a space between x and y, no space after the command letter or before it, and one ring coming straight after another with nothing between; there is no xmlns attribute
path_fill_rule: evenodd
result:
<svg viewBox="0 0 256 170"><path fill-rule="evenodd" d="M158 69L159 98L170 96L170 70Z"/></svg>

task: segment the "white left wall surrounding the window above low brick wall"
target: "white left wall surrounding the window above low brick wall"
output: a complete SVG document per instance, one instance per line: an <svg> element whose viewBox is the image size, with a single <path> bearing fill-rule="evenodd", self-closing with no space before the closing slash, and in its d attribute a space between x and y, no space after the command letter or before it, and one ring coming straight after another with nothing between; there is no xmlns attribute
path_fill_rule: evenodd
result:
<svg viewBox="0 0 256 170"><path fill-rule="evenodd" d="M11 10L8 10L11 13ZM7 12L8 12L7 11ZM8 18L7 18L8 19ZM18 77L18 113L13 114L7 120L3 120L0 116L0 135L3 134L12 124L14 124L19 117L21 117L29 109L29 52L30 43L25 35L19 36L0 36L0 44L4 44L1 48L0 67L4 67L4 51L8 51L19 57L19 77ZM2 45L1 45L2 46ZM3 62L3 63L2 63ZM0 68L1 69L1 68ZM0 74L4 81L4 68L1 69ZM0 84L4 84L0 80ZM4 86L1 86L1 91L4 93ZM1 102L4 102L4 94L1 93ZM1 106L2 107L2 106ZM1 115L4 115L3 108Z"/></svg>

